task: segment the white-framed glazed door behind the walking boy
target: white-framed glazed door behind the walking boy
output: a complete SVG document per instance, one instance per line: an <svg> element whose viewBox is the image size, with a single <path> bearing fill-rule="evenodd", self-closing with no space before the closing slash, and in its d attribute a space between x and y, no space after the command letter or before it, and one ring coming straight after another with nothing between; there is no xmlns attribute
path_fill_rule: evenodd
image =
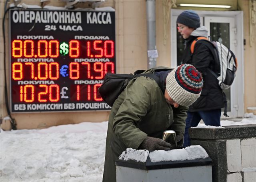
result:
<svg viewBox="0 0 256 182"><path fill-rule="evenodd" d="M176 19L178 14L183 10L172 10L171 13L171 66L175 67L182 64L180 61L184 51L185 41L180 36L176 28ZM244 114L244 98L243 98L243 35L241 32L242 16L237 16L240 12L228 14L229 12L208 12L208 11L196 11L200 16L201 25L206 26L208 29L208 36L211 36L212 41L222 42L225 46L230 48L238 58L238 69L236 72L236 78L230 89L224 90L228 100L228 115L230 118L236 118L243 116ZM210 16L209 16L210 15ZM236 24L240 27L236 28ZM240 60L240 61L239 61ZM224 110L224 109L223 109ZM222 110L222 111L223 111ZM222 118L225 118L222 114Z"/></svg>

